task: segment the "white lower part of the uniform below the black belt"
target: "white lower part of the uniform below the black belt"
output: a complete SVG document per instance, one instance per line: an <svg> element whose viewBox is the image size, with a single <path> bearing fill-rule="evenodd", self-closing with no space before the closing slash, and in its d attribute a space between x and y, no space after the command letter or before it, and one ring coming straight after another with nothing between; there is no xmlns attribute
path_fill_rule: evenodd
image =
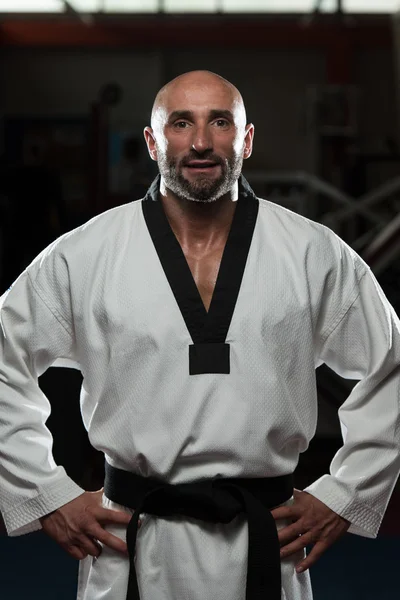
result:
<svg viewBox="0 0 400 600"><path fill-rule="evenodd" d="M103 505L126 510L107 498ZM229 525L150 515L141 519L136 571L142 600L244 600L248 536L243 518ZM288 524L280 521L278 528ZM124 527L108 529L125 539ZM312 600L309 572L295 572L303 554L281 563L282 600ZM128 573L128 559L103 547L99 558L81 561L77 600L125 600Z"/></svg>

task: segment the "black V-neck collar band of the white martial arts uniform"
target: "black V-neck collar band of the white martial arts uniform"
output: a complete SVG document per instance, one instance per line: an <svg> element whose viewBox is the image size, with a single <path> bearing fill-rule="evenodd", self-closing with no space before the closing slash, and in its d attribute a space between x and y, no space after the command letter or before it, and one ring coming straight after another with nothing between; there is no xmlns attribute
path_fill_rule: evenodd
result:
<svg viewBox="0 0 400 600"><path fill-rule="evenodd" d="M259 202L246 179L241 176L239 198L207 312L183 250L168 222L162 202L159 200L159 189L160 176L152 183L142 202L143 215L193 344L197 346L197 350L200 349L200 345L206 345L205 350L209 353L210 345L227 346L225 340L239 295L257 220ZM214 349L217 348L214 347ZM193 349L191 352L194 351ZM226 363L226 356L224 360ZM207 367L207 369L209 368L213 368L212 365ZM218 373L221 371L201 372ZM222 372L229 372L229 370Z"/></svg>

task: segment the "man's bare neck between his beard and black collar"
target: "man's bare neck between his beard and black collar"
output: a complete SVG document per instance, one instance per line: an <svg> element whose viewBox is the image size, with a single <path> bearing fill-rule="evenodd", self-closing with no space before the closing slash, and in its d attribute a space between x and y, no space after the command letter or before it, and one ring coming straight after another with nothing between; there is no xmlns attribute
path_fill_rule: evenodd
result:
<svg viewBox="0 0 400 600"><path fill-rule="evenodd" d="M183 249L205 253L225 244L236 209L239 186L215 202L193 202L174 194L161 178L160 196L166 217Z"/></svg>

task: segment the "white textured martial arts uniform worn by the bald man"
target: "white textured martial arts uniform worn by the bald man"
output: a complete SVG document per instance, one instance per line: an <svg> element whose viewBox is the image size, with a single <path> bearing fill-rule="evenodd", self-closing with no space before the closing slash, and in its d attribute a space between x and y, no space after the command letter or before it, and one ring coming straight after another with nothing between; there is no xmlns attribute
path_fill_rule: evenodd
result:
<svg viewBox="0 0 400 600"><path fill-rule="evenodd" d="M83 420L111 465L178 483L292 473L315 433L315 367L324 362L361 381L340 409L344 445L331 473L308 491L353 533L376 536L399 471L399 321L334 233L258 202L226 339L230 374L189 375L192 340L143 201L62 236L3 296L0 508L10 535L37 529L82 493L54 464L44 425L50 409L37 378L52 364L81 369ZM216 525L145 516L141 598L243 600L246 551L241 517ZM298 560L283 561L283 599L312 597ZM125 558L104 548L81 567L80 600L125 600Z"/></svg>

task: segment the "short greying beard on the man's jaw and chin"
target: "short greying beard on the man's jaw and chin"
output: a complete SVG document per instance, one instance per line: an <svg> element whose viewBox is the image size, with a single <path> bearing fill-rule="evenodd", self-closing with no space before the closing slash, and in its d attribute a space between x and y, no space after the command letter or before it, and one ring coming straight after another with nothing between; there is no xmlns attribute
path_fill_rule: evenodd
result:
<svg viewBox="0 0 400 600"><path fill-rule="evenodd" d="M175 162L158 153L158 168L167 188L189 202L215 202L228 194L239 179L242 166L243 158L235 157L231 162L221 164L222 173L218 179L210 180L204 175L198 177L196 183L191 183L177 170Z"/></svg>

